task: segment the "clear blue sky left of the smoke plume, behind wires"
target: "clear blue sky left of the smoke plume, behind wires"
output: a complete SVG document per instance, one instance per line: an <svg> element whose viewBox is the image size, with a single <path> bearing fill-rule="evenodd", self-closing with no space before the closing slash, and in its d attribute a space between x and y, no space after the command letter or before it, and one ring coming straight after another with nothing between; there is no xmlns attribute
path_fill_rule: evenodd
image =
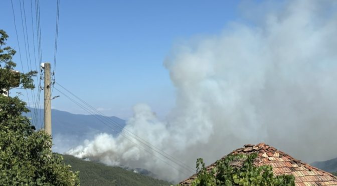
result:
<svg viewBox="0 0 337 186"><path fill-rule="evenodd" d="M31 1L24 1L33 56ZM163 66L165 57L175 43L218 34L228 22L239 19L238 3L236 0L61 0L56 81L106 115L127 118L132 114L132 106L139 102L148 103L159 116L165 115L175 105L175 88ZM13 0L13 5L27 70L19 0ZM2 9L6 16L0 17L0 28L10 35L8 44L19 50L11 0L3 0ZM53 62L56 0L41 0L40 11L42 59ZM15 61L21 70L19 52ZM27 95L21 97L27 101ZM65 96L54 99L53 108L86 113Z"/></svg>

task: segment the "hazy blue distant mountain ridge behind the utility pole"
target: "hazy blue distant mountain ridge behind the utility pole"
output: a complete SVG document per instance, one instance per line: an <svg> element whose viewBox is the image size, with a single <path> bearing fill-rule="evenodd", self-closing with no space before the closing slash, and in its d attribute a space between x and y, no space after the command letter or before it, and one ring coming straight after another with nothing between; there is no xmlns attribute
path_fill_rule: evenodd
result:
<svg viewBox="0 0 337 186"><path fill-rule="evenodd" d="M37 129L43 127L43 109L30 108L28 117ZM116 127L118 126L118 127ZM73 114L66 111L52 109L53 151L64 153L71 147L81 144L85 139L101 132L116 135L125 126L125 120L115 116Z"/></svg>

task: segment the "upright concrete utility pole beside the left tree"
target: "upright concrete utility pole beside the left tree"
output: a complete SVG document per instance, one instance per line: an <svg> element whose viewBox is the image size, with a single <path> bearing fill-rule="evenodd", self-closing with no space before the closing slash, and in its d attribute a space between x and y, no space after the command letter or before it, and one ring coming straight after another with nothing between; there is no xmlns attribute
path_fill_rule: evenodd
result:
<svg viewBox="0 0 337 186"><path fill-rule="evenodd" d="M52 134L52 99L51 95L51 83L50 83L50 63L41 63L41 67L45 69L45 130L48 134Z"/></svg>

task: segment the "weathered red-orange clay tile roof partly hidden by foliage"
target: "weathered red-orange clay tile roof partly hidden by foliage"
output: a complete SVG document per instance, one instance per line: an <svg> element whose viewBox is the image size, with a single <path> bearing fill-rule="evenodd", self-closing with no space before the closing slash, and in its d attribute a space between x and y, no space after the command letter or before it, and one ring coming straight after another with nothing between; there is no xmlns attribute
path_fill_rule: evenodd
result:
<svg viewBox="0 0 337 186"><path fill-rule="evenodd" d="M271 165L275 175L292 174L295 176L295 185L337 185L337 177L331 173L297 160L265 143L246 144L244 147L238 148L229 154L251 153L257 153L257 157L254 159L256 166ZM234 160L230 164L232 166L240 166L243 161L244 159ZM207 170L211 170L215 165L215 163L212 163L207 166ZM180 182L180 184L190 185L196 176L197 174L194 174Z"/></svg>

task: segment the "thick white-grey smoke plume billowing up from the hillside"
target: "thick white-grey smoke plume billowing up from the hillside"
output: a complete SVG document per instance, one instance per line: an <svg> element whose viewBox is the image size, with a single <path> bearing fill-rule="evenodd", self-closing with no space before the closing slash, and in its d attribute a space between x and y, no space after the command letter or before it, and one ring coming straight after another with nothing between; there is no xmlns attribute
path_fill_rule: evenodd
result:
<svg viewBox="0 0 337 186"><path fill-rule="evenodd" d="M260 6L247 11L267 9ZM136 105L125 128L192 167L197 157L210 163L262 141L308 162L337 156L336 8L336 1L291 0L253 23L177 44L164 62L176 107L159 120ZM68 153L187 177L120 135L97 135Z"/></svg>

